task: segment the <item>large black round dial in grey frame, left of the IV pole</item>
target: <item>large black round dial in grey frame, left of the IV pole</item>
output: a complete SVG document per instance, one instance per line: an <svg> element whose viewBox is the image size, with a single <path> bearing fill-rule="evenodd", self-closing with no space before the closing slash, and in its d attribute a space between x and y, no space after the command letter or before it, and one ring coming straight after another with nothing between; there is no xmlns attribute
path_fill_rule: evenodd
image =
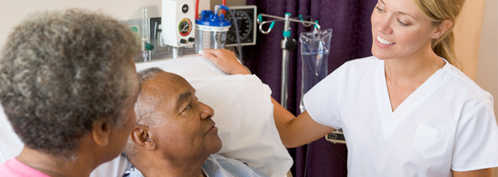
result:
<svg viewBox="0 0 498 177"><path fill-rule="evenodd" d="M253 33L253 18L245 11L235 11L235 18L237 19L237 27L240 31L240 41L243 42ZM231 15L227 15L226 20L233 23ZM230 43L237 43L237 34L235 33L234 26L228 31L227 38Z"/></svg>

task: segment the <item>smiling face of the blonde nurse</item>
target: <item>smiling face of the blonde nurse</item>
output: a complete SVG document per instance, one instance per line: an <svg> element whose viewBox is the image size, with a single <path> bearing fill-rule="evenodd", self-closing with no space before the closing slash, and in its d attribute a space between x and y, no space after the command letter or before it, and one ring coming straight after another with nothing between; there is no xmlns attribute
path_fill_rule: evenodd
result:
<svg viewBox="0 0 498 177"><path fill-rule="evenodd" d="M371 16L372 55L378 59L416 57L430 52L436 26L413 0L379 0Z"/></svg>

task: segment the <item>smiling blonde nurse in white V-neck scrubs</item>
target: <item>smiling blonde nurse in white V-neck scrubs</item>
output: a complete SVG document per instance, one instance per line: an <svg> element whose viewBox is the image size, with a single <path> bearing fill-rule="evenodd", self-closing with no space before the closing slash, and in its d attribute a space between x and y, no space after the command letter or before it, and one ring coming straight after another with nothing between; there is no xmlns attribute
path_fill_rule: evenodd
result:
<svg viewBox="0 0 498 177"><path fill-rule="evenodd" d="M493 98L454 66L452 29L463 4L379 0L372 57L346 62L314 86L297 118L272 100L283 144L343 128L349 176L490 176L498 166ZM234 60L222 50L204 56Z"/></svg>

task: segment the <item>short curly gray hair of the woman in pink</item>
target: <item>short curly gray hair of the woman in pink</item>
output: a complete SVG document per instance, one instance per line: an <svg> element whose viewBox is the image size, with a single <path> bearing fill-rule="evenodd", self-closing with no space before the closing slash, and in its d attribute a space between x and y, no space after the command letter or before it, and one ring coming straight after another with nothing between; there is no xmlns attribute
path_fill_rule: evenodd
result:
<svg viewBox="0 0 498 177"><path fill-rule="evenodd" d="M0 101L25 146L73 156L96 120L122 126L138 46L102 13L43 12L18 25L0 55Z"/></svg>

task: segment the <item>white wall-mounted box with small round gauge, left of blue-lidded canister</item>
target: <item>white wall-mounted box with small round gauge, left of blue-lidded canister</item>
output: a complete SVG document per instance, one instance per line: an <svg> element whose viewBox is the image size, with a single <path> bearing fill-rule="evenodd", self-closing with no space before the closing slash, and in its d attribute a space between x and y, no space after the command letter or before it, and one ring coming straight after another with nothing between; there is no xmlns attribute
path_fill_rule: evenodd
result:
<svg viewBox="0 0 498 177"><path fill-rule="evenodd" d="M194 45L196 26L194 0L162 0L162 45Z"/></svg>

